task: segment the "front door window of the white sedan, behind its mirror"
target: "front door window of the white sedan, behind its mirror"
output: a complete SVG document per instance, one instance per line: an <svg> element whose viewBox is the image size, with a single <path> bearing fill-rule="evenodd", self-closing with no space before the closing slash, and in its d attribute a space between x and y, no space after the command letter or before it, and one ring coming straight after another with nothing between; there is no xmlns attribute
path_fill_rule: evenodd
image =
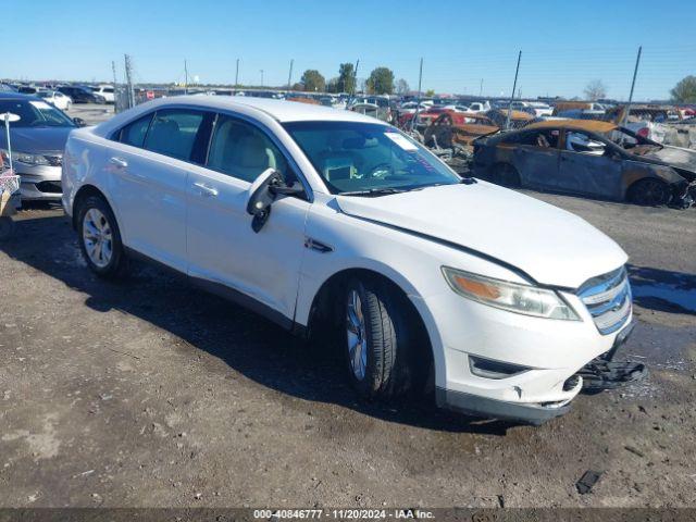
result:
<svg viewBox="0 0 696 522"><path fill-rule="evenodd" d="M225 114L217 116L207 166L249 183L273 167L294 182L285 157L262 130Z"/></svg>

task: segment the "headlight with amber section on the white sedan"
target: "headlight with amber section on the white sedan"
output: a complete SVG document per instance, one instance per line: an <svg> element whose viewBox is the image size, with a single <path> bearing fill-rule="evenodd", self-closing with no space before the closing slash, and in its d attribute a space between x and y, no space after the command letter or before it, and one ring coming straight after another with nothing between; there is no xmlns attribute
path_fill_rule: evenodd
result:
<svg viewBox="0 0 696 522"><path fill-rule="evenodd" d="M489 307L536 318L580 321L580 316L554 290L484 277L443 266L449 286L460 296Z"/></svg>

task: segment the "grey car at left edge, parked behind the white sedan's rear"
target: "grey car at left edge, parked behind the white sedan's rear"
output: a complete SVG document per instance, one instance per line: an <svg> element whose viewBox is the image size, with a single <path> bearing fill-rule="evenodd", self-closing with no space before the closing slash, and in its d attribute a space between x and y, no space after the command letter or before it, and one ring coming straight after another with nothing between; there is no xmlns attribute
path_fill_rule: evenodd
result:
<svg viewBox="0 0 696 522"><path fill-rule="evenodd" d="M39 97L18 92L0 92L0 113L5 112L20 116L10 125L10 139L12 167L21 176L22 199L60 200L63 148L70 132L83 122L71 120ZM10 161L5 139L3 129L0 133L3 163Z"/></svg>

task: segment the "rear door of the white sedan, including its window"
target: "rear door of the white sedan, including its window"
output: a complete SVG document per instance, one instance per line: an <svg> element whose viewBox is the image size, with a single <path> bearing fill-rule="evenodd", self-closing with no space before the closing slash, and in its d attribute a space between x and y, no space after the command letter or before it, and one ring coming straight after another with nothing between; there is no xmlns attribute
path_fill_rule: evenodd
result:
<svg viewBox="0 0 696 522"><path fill-rule="evenodd" d="M121 129L105 159L126 246L182 272L188 171L204 161L212 117L192 109L147 114Z"/></svg>

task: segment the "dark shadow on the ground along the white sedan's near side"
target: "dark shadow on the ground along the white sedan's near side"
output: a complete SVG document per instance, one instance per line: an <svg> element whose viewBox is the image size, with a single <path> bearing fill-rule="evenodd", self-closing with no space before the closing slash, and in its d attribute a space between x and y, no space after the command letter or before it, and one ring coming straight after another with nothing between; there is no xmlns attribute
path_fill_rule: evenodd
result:
<svg viewBox="0 0 696 522"><path fill-rule="evenodd" d="M119 310L147 321L263 386L303 400L435 431L505 435L517 425L438 410L430 395L388 406L358 400L333 350L300 341L260 315L154 265L133 261L125 279L100 279L82 259L65 215L32 214L37 215L20 216L14 237L0 243L0 251L87 295L85 304L90 309Z"/></svg>

